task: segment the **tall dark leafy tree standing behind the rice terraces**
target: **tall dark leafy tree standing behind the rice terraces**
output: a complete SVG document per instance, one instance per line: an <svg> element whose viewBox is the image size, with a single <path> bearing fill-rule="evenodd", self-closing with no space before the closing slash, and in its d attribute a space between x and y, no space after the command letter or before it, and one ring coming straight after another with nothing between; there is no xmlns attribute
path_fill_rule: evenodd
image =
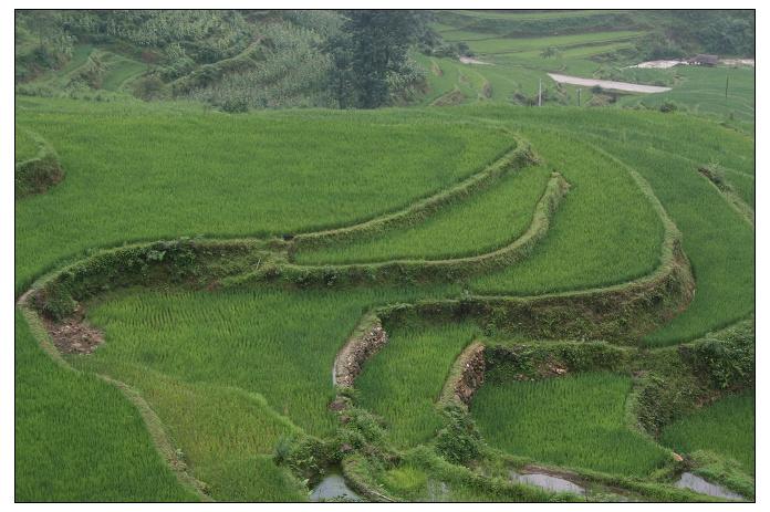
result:
<svg viewBox="0 0 770 512"><path fill-rule="evenodd" d="M326 44L334 61L330 87L343 108L383 106L389 100L388 74L405 66L409 45L425 33L426 15L409 10L344 14L341 34Z"/></svg>

